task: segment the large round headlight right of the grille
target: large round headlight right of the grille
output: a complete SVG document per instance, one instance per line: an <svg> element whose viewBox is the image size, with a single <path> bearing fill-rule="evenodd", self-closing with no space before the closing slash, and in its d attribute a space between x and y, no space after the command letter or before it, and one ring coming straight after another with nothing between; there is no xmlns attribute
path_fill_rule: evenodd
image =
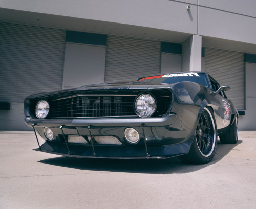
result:
<svg viewBox="0 0 256 209"><path fill-rule="evenodd" d="M135 102L135 109L140 117L150 117L156 111L156 101L151 95L140 95Z"/></svg>

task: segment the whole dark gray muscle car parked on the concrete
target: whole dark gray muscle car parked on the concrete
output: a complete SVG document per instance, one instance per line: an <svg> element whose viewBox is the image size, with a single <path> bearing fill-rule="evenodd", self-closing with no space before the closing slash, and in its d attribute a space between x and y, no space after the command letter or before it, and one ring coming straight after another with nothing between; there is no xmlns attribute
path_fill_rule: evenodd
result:
<svg viewBox="0 0 256 209"><path fill-rule="evenodd" d="M203 164L238 141L228 86L205 72L147 76L35 94L24 103L36 151L89 158L169 158ZM44 138L40 145L37 135Z"/></svg>

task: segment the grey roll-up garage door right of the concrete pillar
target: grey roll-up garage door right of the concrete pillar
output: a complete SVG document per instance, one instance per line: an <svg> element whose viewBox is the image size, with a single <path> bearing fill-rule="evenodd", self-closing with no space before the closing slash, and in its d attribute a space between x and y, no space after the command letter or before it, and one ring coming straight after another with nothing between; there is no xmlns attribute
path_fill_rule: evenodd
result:
<svg viewBox="0 0 256 209"><path fill-rule="evenodd" d="M231 87L226 95L237 109L244 109L244 54L240 52L205 48L205 71L220 85Z"/></svg>

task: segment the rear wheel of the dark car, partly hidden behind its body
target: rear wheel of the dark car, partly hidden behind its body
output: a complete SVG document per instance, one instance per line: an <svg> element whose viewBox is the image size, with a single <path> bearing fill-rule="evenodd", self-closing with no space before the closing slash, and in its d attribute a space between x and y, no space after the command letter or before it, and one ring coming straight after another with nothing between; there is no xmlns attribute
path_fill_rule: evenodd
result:
<svg viewBox="0 0 256 209"><path fill-rule="evenodd" d="M220 135L220 141L223 144L236 144L238 142L238 118L234 117L234 122L229 130Z"/></svg>

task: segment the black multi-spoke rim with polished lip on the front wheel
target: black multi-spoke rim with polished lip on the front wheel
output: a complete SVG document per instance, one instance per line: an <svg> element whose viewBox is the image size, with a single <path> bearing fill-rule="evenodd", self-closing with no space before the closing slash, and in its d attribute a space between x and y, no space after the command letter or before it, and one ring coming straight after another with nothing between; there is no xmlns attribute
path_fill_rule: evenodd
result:
<svg viewBox="0 0 256 209"><path fill-rule="evenodd" d="M204 108L196 129L197 145L203 156L212 154L216 143L215 123L209 109Z"/></svg>

